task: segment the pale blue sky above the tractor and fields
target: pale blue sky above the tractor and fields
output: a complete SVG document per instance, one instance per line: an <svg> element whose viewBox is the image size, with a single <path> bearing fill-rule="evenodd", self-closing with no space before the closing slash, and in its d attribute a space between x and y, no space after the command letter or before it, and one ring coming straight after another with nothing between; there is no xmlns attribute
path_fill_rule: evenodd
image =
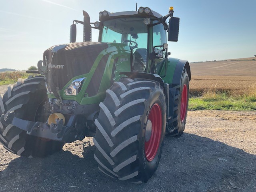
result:
<svg viewBox="0 0 256 192"><path fill-rule="evenodd" d="M168 42L171 57L197 62L256 54L256 0L0 0L0 68L37 66L44 50L69 42L70 25L83 20L82 10L95 22L100 11L136 10L136 2L162 15L174 7L180 32L178 42ZM81 42L82 25L77 31Z"/></svg>

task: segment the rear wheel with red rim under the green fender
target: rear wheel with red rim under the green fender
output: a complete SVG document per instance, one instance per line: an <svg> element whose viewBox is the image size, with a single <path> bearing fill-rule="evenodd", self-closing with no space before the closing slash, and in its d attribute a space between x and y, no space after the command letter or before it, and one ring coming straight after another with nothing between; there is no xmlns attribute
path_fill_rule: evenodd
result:
<svg viewBox="0 0 256 192"><path fill-rule="evenodd" d="M184 68L180 81L180 86L176 88L174 97L174 112L172 124L174 130L169 132L166 129L168 136L181 136L185 130L186 118L188 114L188 99L189 99L189 76L188 70Z"/></svg>

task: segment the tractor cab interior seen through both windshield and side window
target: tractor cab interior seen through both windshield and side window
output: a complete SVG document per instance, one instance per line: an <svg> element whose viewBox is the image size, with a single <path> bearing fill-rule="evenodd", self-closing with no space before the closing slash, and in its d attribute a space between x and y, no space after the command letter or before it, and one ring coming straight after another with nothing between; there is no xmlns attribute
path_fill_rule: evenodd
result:
<svg viewBox="0 0 256 192"><path fill-rule="evenodd" d="M132 71L145 72L149 54L148 34L149 30L148 26L144 24L144 18L116 18L104 21L101 41L123 43L130 46L133 58ZM152 41L152 49L156 55L163 43L166 43L166 31L162 24L157 24L153 26ZM163 52L161 58L152 60L154 66L162 66L165 57L165 52Z"/></svg>

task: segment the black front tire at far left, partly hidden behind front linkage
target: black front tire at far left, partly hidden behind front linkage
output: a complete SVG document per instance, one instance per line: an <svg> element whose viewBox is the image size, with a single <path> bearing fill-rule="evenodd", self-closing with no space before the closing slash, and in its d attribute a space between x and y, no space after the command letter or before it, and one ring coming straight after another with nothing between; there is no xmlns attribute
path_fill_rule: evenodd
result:
<svg viewBox="0 0 256 192"><path fill-rule="evenodd" d="M8 86L4 95L0 95L1 114L14 110L15 116L24 120L37 121L45 117L43 104L47 98L45 81L42 76L18 82ZM12 124L0 122L0 142L10 152L32 157L44 157L62 150L65 143L46 140L26 134L24 130Z"/></svg>

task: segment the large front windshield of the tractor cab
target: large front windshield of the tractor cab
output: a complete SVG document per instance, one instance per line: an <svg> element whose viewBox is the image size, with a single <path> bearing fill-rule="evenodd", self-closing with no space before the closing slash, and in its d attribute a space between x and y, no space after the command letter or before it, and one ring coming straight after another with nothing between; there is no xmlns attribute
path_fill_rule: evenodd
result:
<svg viewBox="0 0 256 192"><path fill-rule="evenodd" d="M147 63L148 26L144 18L117 18L104 22L102 42L123 43L132 51L132 71L144 72Z"/></svg>

